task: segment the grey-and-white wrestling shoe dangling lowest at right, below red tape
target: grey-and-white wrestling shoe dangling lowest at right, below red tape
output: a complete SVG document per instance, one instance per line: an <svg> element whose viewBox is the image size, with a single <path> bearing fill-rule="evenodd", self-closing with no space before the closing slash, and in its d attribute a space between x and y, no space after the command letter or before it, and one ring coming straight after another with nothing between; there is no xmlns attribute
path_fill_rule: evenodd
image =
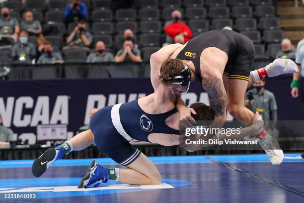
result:
<svg viewBox="0 0 304 203"><path fill-rule="evenodd" d="M274 137L267 133L263 139L258 138L258 143L268 155L272 165L277 166L283 162L284 153Z"/></svg>

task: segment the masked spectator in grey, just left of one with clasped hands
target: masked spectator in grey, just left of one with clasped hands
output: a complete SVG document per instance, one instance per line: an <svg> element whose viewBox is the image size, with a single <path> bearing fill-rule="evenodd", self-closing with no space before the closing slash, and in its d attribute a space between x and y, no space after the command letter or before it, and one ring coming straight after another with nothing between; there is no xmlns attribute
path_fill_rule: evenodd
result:
<svg viewBox="0 0 304 203"><path fill-rule="evenodd" d="M114 62L113 54L106 52L106 46L103 41L96 42L95 52L90 53L86 58L86 63L99 62Z"/></svg>

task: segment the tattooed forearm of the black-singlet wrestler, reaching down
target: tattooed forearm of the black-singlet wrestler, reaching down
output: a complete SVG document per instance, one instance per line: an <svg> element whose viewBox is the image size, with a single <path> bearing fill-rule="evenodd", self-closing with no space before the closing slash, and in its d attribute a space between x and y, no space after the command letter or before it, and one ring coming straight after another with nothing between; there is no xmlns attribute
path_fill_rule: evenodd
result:
<svg viewBox="0 0 304 203"><path fill-rule="evenodd" d="M215 114L213 127L222 127L226 121L226 91L222 77L219 74L204 77L202 85L208 93L210 107Z"/></svg>

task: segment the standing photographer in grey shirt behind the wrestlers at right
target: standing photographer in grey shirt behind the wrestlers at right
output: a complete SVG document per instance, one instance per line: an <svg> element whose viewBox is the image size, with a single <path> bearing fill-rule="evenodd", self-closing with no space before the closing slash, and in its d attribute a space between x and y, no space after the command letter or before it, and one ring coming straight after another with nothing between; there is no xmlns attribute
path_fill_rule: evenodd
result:
<svg viewBox="0 0 304 203"><path fill-rule="evenodd" d="M253 84L253 90L246 94L245 106L252 112L259 112L265 123L265 130L273 135L278 120L277 102L274 94L265 90L265 79L262 78Z"/></svg>

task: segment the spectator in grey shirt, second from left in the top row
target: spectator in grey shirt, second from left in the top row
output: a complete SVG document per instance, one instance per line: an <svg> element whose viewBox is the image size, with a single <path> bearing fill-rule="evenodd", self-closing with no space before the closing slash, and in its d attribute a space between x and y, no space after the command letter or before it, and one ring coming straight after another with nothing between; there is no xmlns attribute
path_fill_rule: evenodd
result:
<svg viewBox="0 0 304 203"><path fill-rule="evenodd" d="M20 29L27 31L29 35L40 35L42 33L42 27L38 20L34 20L33 13L26 11L24 14L24 20L21 21Z"/></svg>

